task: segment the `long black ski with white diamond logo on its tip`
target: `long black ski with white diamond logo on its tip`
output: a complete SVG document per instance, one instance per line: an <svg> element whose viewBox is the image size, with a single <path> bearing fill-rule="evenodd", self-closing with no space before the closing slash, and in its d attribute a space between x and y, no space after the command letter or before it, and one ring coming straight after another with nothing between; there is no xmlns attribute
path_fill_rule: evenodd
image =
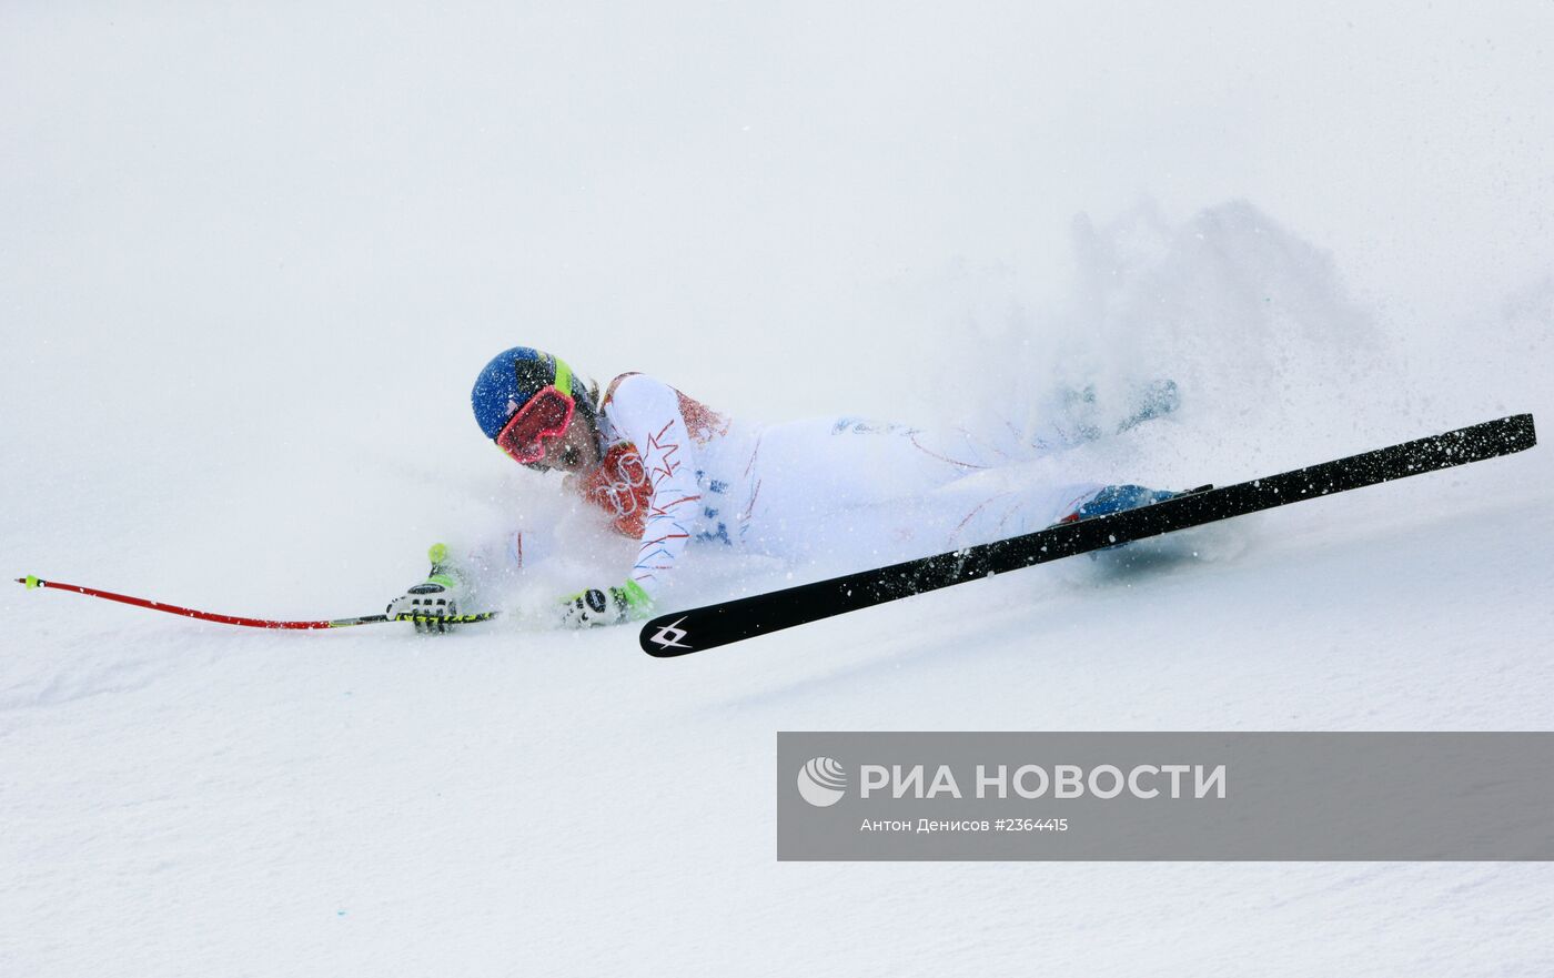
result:
<svg viewBox="0 0 1554 978"><path fill-rule="evenodd" d="M654 617L642 628L642 650L671 658L768 634L794 625L883 605L923 591L991 577L1030 564L1100 550L1131 540L1243 516L1277 505L1330 496L1378 482L1483 462L1537 445L1531 414L1403 442L1335 462L1204 488L1164 502L1058 524L963 550L909 560L887 568L754 594L706 608Z"/></svg>

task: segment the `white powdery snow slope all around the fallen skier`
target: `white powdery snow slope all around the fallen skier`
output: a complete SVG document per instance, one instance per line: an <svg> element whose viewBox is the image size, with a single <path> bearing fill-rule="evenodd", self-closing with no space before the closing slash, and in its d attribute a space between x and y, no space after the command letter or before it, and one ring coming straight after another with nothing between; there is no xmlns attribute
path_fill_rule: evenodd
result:
<svg viewBox="0 0 1554 978"><path fill-rule="evenodd" d="M1181 382L1032 477L1548 431L1551 42L1546 3L6 5L0 564L373 613L434 540L577 524L468 417L517 342L765 418ZM1551 729L1551 487L1545 445L678 661L9 588L0 975L1549 975L1545 864L779 864L772 765Z"/></svg>

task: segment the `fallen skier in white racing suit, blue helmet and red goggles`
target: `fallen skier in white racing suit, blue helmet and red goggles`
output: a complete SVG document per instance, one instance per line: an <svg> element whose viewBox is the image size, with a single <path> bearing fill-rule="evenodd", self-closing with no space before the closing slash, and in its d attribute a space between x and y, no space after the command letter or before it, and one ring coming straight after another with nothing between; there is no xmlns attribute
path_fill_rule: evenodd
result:
<svg viewBox="0 0 1554 978"><path fill-rule="evenodd" d="M1088 404L1092 392L1071 395ZM1142 392L1116 431L1176 407L1176 386ZM747 424L640 373L597 384L566 361L503 350L471 392L476 421L508 457L561 471L563 485L618 533L639 541L623 580L587 588L556 606L559 623L611 625L648 617L687 547L724 546L799 560L856 554L869 566L987 543L1175 493L1139 485L1024 485L1010 470L1103 434L1064 412L1037 432L993 437L878 424L855 417ZM418 631L446 631L479 600L483 580L535 564L531 530L500 554L454 560L435 544L430 575L388 605Z"/></svg>

